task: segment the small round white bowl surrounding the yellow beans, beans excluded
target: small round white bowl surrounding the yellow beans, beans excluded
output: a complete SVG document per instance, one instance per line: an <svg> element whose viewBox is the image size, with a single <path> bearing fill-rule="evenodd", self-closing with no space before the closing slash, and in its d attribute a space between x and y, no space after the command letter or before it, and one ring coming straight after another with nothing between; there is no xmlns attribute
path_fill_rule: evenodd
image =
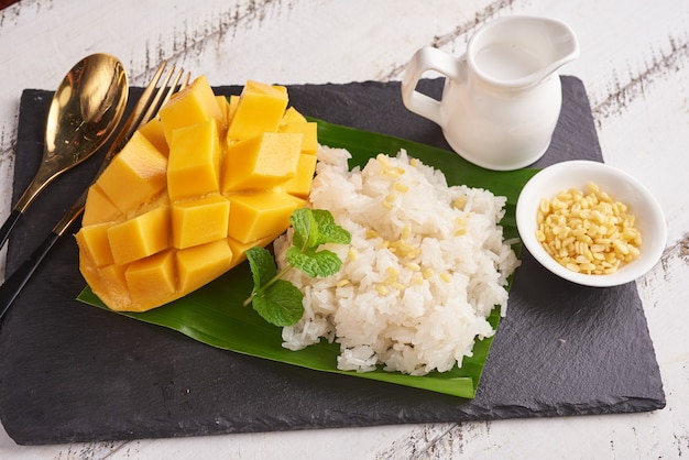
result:
<svg viewBox="0 0 689 460"><path fill-rule="evenodd" d="M635 227L642 233L641 255L608 275L588 275L566 269L545 251L535 236L536 215L543 198L550 199L572 187L584 190L590 182L598 184L601 191L606 191L613 199L625 204L635 216ZM591 161L557 163L532 177L517 200L516 223L522 242L540 264L565 280L586 286L616 286L638 278L660 260L667 241L663 210L648 189L628 174Z"/></svg>

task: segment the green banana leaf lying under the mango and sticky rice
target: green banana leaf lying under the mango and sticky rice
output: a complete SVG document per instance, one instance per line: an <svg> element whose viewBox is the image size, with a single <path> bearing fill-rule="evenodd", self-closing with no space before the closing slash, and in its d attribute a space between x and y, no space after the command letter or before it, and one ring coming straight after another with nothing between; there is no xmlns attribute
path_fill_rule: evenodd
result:
<svg viewBox="0 0 689 460"><path fill-rule="evenodd" d="M506 215L502 220L504 237L517 239L515 222L516 200L526 182L536 169L514 172L493 172L475 166L452 152L431 147L397 138L354 130L321 120L318 123L318 140L324 145L347 149L352 154L350 167L364 165L379 153L395 155L405 149L411 156L424 164L442 171L450 185L466 184L471 187L486 188L495 195L506 196ZM518 241L514 244L521 252ZM289 351L282 347L281 329L263 320L251 307L243 307L242 302L253 286L251 272L247 263L231 270L203 288L160 308L145 313L118 313L141 321L177 330L192 339L211 347L244 353L267 360L299 365L317 371L354 375L389 383L445 393L463 398L475 395L483 365L492 338L477 341L473 355L464 358L461 368L448 372L434 372L424 376L412 376L398 372L357 373L339 371L337 355L339 346L322 340L300 351ZM100 299L86 287L78 299L109 310ZM109 310L110 311L110 310ZM494 308L489 321L494 328L500 322L499 308Z"/></svg>

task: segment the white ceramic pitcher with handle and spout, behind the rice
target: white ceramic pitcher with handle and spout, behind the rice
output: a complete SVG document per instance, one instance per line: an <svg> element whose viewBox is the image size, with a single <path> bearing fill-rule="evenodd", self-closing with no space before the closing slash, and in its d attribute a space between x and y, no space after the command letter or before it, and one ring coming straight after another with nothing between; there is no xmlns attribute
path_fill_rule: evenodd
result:
<svg viewBox="0 0 689 460"><path fill-rule="evenodd" d="M490 169L528 166L550 144L562 102L557 69L579 56L561 21L507 17L481 28L459 58L418 50L402 80L406 108L442 128L450 146ZM446 77L440 100L416 90L422 75Z"/></svg>

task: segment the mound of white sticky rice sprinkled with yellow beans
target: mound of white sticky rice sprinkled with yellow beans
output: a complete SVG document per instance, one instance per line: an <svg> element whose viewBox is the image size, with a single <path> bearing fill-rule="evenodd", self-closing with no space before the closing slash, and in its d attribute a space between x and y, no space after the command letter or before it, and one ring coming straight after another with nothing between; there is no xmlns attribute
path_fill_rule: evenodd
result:
<svg viewBox="0 0 689 460"><path fill-rule="evenodd" d="M424 375L461 366L477 339L504 316L507 277L518 261L499 222L504 197L448 187L440 171L411 158L378 155L348 168L346 150L322 146L308 206L329 210L351 245L326 245L343 261L333 276L298 270L286 278L304 293L304 317L283 329L283 347L321 339L340 344L338 369ZM292 231L275 242L278 265Z"/></svg>

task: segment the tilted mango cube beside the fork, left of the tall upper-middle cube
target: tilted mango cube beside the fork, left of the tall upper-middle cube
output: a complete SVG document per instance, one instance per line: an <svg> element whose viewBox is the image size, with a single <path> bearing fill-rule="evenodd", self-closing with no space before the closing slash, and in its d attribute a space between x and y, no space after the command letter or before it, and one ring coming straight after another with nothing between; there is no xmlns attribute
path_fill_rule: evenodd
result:
<svg viewBox="0 0 689 460"><path fill-rule="evenodd" d="M96 184L122 213L151 201L165 188L167 160L140 132L102 172ZM125 190L122 187L127 187Z"/></svg>

